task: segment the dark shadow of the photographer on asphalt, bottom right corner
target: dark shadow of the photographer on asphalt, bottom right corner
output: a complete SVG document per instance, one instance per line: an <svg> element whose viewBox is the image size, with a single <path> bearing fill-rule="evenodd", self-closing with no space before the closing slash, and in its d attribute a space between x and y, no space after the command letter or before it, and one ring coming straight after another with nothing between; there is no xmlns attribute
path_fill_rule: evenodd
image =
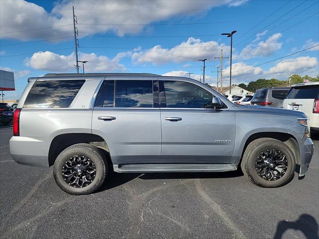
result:
<svg viewBox="0 0 319 239"><path fill-rule="evenodd" d="M319 239L318 224L316 219L309 214L302 214L295 222L280 221L277 224L274 239L281 239L289 229L301 231L307 239Z"/></svg>

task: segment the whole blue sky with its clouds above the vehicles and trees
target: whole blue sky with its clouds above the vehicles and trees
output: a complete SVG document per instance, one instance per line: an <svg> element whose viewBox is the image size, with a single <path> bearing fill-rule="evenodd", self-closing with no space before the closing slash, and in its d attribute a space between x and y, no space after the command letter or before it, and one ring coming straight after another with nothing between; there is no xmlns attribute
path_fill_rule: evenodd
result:
<svg viewBox="0 0 319 239"><path fill-rule="evenodd" d="M223 49L233 36L233 84L289 73L319 74L318 0L1 0L0 67L15 74L18 98L28 77L75 72L72 6L78 17L79 60L86 72L149 72L216 84ZM224 84L229 82L225 59ZM248 69L246 69L248 68ZM82 68L80 68L80 72Z"/></svg>

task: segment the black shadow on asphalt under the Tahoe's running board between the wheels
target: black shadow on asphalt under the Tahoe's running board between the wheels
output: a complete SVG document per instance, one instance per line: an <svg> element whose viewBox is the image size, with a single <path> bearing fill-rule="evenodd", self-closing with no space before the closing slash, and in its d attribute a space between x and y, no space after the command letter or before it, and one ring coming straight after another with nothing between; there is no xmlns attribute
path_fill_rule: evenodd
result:
<svg viewBox="0 0 319 239"><path fill-rule="evenodd" d="M116 173L109 171L106 182L97 192L109 190L121 186L135 178L143 180L152 179L196 179L196 178L234 178L241 177L244 174L239 171L229 172L203 172L203 173Z"/></svg>

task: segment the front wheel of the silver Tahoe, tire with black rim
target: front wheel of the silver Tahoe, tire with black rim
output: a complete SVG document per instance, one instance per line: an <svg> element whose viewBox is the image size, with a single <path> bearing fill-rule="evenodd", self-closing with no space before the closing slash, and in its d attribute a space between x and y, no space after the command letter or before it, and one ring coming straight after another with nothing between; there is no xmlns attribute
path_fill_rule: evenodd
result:
<svg viewBox="0 0 319 239"><path fill-rule="evenodd" d="M267 151L270 150L270 151ZM257 170L260 170L261 168L264 169L266 167L259 167L259 165L267 165L267 168L265 169L265 172L268 169L273 170L273 173L278 173L277 170L273 168L268 168L276 166L276 161L273 163L269 163L268 161L272 162L272 156L269 156L269 158L262 158L260 155L265 155L263 152L273 152L279 153L278 155L284 154L285 157L279 157L280 160L285 160L285 164L287 164L286 171L283 170L282 174L276 174L279 176L275 176L272 179L272 175L270 173L265 173L263 176L260 176L257 173ZM269 154L274 155L274 154ZM275 158L275 156L274 156ZM261 160L261 161L260 161ZM267 161L267 162L265 162ZM258 164L259 163L259 164ZM284 165L281 165L282 167L285 167ZM278 167L277 167L278 168ZM294 153L289 148L288 145L283 143L280 140L273 139L273 138L259 138L254 141L252 141L246 148L242 162L241 162L241 169L244 173L244 175L255 185L264 187L264 188L277 188L286 185L289 183L293 178L295 174L295 168L296 168L296 161L294 157ZM260 172L263 174L263 172ZM282 175L282 176L281 176ZM279 178L280 177L280 178Z"/></svg>

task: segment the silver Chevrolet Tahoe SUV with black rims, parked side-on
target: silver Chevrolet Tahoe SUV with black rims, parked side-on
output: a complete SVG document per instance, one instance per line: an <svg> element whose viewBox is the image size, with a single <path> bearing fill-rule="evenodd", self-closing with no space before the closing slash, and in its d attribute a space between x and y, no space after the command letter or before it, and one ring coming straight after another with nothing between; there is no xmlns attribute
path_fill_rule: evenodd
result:
<svg viewBox="0 0 319 239"><path fill-rule="evenodd" d="M13 117L10 153L49 167L59 187L89 194L109 169L243 171L279 187L304 177L314 152L302 112L238 106L189 78L47 74L29 78Z"/></svg>

